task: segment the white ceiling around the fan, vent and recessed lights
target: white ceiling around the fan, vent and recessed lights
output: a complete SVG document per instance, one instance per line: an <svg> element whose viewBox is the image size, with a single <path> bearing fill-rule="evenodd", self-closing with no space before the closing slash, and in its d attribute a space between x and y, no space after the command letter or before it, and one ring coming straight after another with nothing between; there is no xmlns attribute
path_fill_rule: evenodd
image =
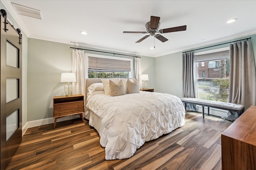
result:
<svg viewBox="0 0 256 170"><path fill-rule="evenodd" d="M150 57L256 33L256 0L1 1L29 38ZM40 10L43 20L18 15L11 2ZM187 30L161 34L169 39L164 43L153 36L135 43L145 34L123 33L146 31L150 16L160 17L160 29L187 25ZM233 18L237 21L226 23Z"/></svg>

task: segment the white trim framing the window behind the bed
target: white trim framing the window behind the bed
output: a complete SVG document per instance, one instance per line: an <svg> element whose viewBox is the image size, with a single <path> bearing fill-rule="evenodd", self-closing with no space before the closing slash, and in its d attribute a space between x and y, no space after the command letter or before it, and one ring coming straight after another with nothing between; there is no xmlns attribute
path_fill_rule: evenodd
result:
<svg viewBox="0 0 256 170"><path fill-rule="evenodd" d="M104 58L104 59L115 59L115 60L124 60L124 61L130 61L131 62L131 74L129 75L129 78L132 78L133 76L133 59L128 59L128 58L122 58L122 57L112 57L112 56L107 56L107 55L98 55L98 54L89 54L85 53L85 58L87 60L87 67L85 68L86 71L86 77L88 78L88 57L98 57L98 58Z"/></svg>

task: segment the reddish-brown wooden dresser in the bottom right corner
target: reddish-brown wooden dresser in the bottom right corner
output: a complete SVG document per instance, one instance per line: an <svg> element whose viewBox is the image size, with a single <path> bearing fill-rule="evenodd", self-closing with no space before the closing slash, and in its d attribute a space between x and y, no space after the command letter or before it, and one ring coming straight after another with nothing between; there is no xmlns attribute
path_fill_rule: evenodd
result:
<svg viewBox="0 0 256 170"><path fill-rule="evenodd" d="M221 135L222 170L256 170L256 106Z"/></svg>

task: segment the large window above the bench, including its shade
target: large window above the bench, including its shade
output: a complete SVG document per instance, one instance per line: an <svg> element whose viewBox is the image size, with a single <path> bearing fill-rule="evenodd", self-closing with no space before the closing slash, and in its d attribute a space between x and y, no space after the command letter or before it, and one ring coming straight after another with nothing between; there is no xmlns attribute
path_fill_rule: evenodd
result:
<svg viewBox="0 0 256 170"><path fill-rule="evenodd" d="M205 62L196 67L197 98L227 102L229 88L229 50L197 55L194 63Z"/></svg>

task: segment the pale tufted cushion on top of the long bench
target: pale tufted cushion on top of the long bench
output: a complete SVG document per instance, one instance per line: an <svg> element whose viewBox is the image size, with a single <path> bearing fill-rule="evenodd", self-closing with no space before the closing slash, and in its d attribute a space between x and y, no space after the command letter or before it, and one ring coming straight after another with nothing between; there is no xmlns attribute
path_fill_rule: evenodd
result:
<svg viewBox="0 0 256 170"><path fill-rule="evenodd" d="M234 104L228 102L217 102L213 100L205 100L205 99L197 99L197 98L180 98L182 102L191 102L199 105L208 105L208 106L215 106L215 107L222 107L226 109L233 109L233 110L242 110L244 105L242 104Z"/></svg>

